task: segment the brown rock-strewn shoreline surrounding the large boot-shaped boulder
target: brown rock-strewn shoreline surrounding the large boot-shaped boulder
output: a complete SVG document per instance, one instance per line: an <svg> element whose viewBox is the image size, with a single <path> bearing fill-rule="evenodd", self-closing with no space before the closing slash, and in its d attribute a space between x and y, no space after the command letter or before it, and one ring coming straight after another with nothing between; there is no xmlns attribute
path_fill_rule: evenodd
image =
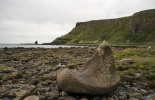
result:
<svg viewBox="0 0 155 100"><path fill-rule="evenodd" d="M0 50L0 100L154 100L155 89L123 75L119 87L106 95L67 94L58 89L56 71L78 69L95 48L4 48ZM152 98L152 99L151 99ZM28 100L28 99L27 99ZM36 99L37 100L37 99Z"/></svg>

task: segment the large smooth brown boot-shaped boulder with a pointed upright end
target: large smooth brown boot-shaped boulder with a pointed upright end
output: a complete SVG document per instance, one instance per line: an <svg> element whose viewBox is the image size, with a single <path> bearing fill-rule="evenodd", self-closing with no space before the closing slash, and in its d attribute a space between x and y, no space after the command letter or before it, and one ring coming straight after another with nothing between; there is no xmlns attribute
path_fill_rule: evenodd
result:
<svg viewBox="0 0 155 100"><path fill-rule="evenodd" d="M106 94L114 91L119 82L112 49L105 41L79 71L63 69L57 72L58 87L69 93Z"/></svg>

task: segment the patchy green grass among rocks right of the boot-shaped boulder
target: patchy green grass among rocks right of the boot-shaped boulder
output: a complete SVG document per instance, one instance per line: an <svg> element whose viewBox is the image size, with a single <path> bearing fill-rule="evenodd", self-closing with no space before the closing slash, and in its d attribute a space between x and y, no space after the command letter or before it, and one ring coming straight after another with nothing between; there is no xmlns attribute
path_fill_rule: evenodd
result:
<svg viewBox="0 0 155 100"><path fill-rule="evenodd" d="M151 88L155 88L155 49L114 50L114 57L115 67L120 75L134 76L136 73L141 73L138 81L147 82ZM118 62L123 58L133 59L133 63L121 65Z"/></svg>

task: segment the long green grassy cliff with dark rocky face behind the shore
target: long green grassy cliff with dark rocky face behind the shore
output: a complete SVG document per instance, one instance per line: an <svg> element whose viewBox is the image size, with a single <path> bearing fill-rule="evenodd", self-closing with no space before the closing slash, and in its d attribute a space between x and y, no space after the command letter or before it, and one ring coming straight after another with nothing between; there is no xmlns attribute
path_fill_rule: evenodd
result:
<svg viewBox="0 0 155 100"><path fill-rule="evenodd" d="M55 39L53 44L99 43L155 43L155 9L133 16L78 22L68 34Z"/></svg>

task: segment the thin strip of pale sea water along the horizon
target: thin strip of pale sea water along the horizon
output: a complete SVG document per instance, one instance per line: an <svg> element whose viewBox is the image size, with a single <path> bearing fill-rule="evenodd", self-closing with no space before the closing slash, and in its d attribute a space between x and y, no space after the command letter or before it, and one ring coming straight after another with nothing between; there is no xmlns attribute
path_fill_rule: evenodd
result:
<svg viewBox="0 0 155 100"><path fill-rule="evenodd" d="M71 48L71 47L86 47L86 46L70 46L70 45L21 45L21 44L0 44L0 48Z"/></svg>

